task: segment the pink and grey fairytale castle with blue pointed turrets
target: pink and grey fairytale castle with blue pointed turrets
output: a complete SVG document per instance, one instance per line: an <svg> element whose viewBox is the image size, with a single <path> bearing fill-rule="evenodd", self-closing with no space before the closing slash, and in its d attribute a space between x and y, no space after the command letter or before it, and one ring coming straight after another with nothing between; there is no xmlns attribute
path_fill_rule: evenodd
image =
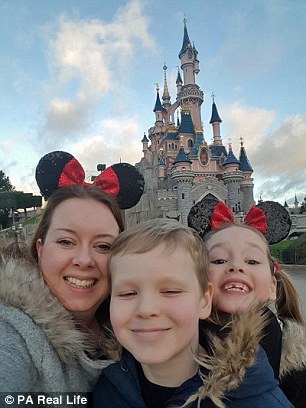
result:
<svg viewBox="0 0 306 408"><path fill-rule="evenodd" d="M235 214L243 214L255 204L253 169L243 141L239 158L231 144L228 149L224 146L214 96L209 122L212 143L205 140L201 120L204 94L196 84L200 72L198 51L190 41L186 21L178 57L175 102L171 102L165 65L161 97L157 86L155 123L144 134L143 157L136 164L145 178L145 192L137 206L127 211L128 225L160 217L176 218L186 224L192 205L207 196L224 201Z"/></svg>

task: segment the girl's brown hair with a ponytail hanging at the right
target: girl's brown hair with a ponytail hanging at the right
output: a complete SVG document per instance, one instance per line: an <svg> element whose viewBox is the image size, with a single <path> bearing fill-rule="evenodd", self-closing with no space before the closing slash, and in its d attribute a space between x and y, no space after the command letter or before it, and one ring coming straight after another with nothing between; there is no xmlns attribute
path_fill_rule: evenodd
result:
<svg viewBox="0 0 306 408"><path fill-rule="evenodd" d="M250 227L245 224L230 224L225 223L220 228L210 231L206 237L204 238L204 242L207 243L209 239L218 233L218 231L230 228L230 227L237 227L237 228L246 228L253 231L258 237L262 239L262 241L266 244L267 249L267 257L270 265L270 270L272 276L275 276L277 281L276 287L276 301L275 301L275 308L277 311L277 315L280 319L294 319L299 323L304 324L304 319L302 316L301 311L301 303L298 296L298 293L292 283L291 278L289 275L283 271L279 270L275 273L275 259L273 258L268 241L266 240L265 236L258 231L256 228Z"/></svg>

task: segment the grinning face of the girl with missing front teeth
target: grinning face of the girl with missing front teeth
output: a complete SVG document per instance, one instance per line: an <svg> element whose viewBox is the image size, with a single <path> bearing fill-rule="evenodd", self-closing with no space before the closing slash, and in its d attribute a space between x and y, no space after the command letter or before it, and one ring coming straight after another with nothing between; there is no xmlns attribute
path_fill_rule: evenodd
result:
<svg viewBox="0 0 306 408"><path fill-rule="evenodd" d="M234 313L276 299L267 244L254 231L232 226L216 232L206 245L215 310Z"/></svg>

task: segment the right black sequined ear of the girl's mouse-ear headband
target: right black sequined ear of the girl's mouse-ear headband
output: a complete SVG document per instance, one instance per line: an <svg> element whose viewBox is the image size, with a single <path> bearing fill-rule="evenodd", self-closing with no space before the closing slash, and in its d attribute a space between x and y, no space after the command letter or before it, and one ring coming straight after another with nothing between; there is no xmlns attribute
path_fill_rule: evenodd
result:
<svg viewBox="0 0 306 408"><path fill-rule="evenodd" d="M286 208L275 201L262 201L256 207L260 208L266 216L267 231L264 236L269 244L276 244L285 239L292 224Z"/></svg>

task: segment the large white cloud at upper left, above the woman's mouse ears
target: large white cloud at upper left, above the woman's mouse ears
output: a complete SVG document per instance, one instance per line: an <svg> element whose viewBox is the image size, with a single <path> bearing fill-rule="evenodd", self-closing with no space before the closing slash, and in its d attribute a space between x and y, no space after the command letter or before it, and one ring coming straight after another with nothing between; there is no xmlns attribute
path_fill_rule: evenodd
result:
<svg viewBox="0 0 306 408"><path fill-rule="evenodd" d="M94 127L90 115L106 95L107 109L116 104L111 95L122 91L135 51L155 49L143 5L140 0L132 0L107 23L62 16L56 33L49 29L54 78L45 87L51 102L39 130L39 135L45 135L40 138L44 147L78 138L89 122ZM128 107L130 101L126 103Z"/></svg>

